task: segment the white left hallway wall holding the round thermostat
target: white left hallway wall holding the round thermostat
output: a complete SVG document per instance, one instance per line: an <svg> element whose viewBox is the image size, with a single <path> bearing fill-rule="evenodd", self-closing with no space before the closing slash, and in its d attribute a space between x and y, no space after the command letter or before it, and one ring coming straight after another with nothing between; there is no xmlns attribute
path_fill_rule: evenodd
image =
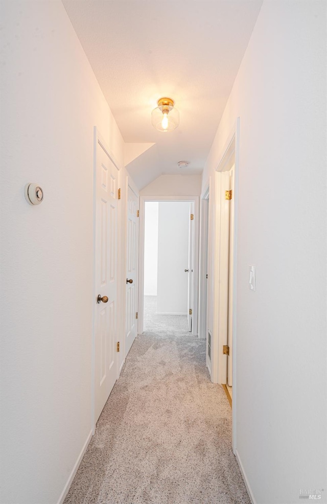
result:
<svg viewBox="0 0 327 504"><path fill-rule="evenodd" d="M93 127L124 144L61 2L2 12L0 501L56 504L91 431Z"/></svg>

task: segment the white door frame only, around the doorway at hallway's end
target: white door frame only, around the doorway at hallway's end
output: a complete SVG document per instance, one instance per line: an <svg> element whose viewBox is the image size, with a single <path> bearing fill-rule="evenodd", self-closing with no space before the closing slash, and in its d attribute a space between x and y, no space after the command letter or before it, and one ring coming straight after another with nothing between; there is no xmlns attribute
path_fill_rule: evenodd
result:
<svg viewBox="0 0 327 504"><path fill-rule="evenodd" d="M199 197L198 196L142 196L139 197L139 253L138 253L138 334L143 333L144 322L144 224L146 201L190 201L194 203L193 236L193 320L192 334L198 335L198 278L199 278Z"/></svg>

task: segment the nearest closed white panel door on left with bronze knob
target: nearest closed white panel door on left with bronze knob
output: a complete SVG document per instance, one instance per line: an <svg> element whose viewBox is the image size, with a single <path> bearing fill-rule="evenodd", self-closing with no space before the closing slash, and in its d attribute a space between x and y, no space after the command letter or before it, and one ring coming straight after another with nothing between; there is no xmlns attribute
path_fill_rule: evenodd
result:
<svg viewBox="0 0 327 504"><path fill-rule="evenodd" d="M119 171L96 145L95 237L95 423L117 378L118 188Z"/></svg>

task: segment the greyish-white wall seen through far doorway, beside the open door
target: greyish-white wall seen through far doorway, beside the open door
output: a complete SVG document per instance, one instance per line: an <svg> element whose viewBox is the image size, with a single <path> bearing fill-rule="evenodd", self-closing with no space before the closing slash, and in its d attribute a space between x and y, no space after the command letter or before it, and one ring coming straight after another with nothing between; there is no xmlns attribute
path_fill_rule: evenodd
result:
<svg viewBox="0 0 327 504"><path fill-rule="evenodd" d="M189 201L160 201L157 312L188 312Z"/></svg>

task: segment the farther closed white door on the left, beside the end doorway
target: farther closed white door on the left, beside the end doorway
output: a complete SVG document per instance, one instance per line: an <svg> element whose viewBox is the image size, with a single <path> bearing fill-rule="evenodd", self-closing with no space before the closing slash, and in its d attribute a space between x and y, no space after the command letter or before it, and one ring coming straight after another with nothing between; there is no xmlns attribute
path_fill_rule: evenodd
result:
<svg viewBox="0 0 327 504"><path fill-rule="evenodd" d="M138 195L128 187L126 240L126 355L137 335Z"/></svg>

